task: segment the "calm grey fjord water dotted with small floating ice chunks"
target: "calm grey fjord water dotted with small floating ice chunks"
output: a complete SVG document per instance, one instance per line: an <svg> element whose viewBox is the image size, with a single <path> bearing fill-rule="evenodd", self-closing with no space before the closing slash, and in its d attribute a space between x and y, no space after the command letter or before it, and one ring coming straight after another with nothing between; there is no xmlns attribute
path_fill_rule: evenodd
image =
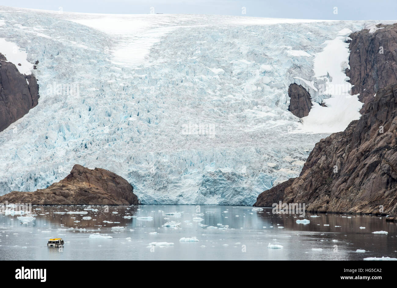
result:
<svg viewBox="0 0 397 288"><path fill-rule="evenodd" d="M84 210L89 208L94 211ZM87 213L67 214L68 211ZM255 211L249 206L219 205L131 205L109 206L108 209L104 206L33 206L32 213L35 219L27 223L21 223L16 215L0 214L1 260L362 260L397 257L397 224L371 215L318 213L318 217L310 217L313 214L306 213L302 218L273 214L271 208ZM297 219L308 219L310 223L297 224ZM164 227L166 223L179 225ZM382 230L388 234L372 233ZM90 238L95 233L112 238ZM179 241L194 237L197 242ZM64 248L47 248L50 238L63 238ZM160 242L174 245L159 245ZM269 243L283 248L268 248ZM358 253L357 249L366 252Z"/></svg>

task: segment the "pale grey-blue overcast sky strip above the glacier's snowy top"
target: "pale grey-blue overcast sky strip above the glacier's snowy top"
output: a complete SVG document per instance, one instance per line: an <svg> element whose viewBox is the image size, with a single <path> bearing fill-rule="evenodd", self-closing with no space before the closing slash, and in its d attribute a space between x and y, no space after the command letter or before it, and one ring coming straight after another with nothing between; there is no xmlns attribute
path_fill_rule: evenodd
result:
<svg viewBox="0 0 397 288"><path fill-rule="evenodd" d="M397 0L0 0L0 5L44 10L62 7L64 12L87 13L152 11L300 19L397 19Z"/></svg>

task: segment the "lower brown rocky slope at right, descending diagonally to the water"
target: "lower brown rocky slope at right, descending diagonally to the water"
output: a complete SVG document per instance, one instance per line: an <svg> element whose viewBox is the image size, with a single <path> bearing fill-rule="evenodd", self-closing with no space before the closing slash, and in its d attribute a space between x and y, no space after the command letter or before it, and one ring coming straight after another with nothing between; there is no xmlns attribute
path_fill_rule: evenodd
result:
<svg viewBox="0 0 397 288"><path fill-rule="evenodd" d="M279 200L305 203L307 211L396 217L397 83L378 90L345 131L320 140L299 177L262 192L254 206Z"/></svg>

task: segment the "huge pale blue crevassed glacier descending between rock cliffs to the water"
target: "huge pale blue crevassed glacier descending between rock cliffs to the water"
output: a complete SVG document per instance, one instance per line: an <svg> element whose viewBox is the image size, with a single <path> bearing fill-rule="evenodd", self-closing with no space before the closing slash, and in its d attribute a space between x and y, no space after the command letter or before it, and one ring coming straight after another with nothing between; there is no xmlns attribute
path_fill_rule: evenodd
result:
<svg viewBox="0 0 397 288"><path fill-rule="evenodd" d="M316 92L316 55L374 23L0 7L0 38L39 60L41 95L0 133L0 195L78 163L124 177L143 204L253 204L327 135L287 110L289 84L330 97Z"/></svg>

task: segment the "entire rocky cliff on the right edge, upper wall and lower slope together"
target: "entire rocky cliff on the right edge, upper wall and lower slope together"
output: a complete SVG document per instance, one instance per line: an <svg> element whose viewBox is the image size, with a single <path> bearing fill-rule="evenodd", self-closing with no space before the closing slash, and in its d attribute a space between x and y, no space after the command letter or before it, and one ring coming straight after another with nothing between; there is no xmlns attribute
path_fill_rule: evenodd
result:
<svg viewBox="0 0 397 288"><path fill-rule="evenodd" d="M351 35L347 75L356 85L353 94L360 93L364 102L362 117L320 140L299 177L262 192L254 206L281 200L305 203L307 211L397 219L397 26L377 27L383 28ZM378 55L382 45L384 53Z"/></svg>

